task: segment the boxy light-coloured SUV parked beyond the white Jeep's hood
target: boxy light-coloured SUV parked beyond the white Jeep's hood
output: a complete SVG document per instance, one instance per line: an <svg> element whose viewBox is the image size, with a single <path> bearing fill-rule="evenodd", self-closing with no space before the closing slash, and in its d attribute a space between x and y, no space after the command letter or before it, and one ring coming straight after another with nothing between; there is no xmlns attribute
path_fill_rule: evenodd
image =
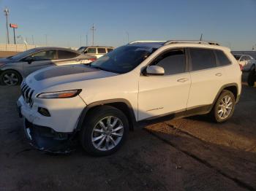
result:
<svg viewBox="0 0 256 191"><path fill-rule="evenodd" d="M97 58L105 55L108 52L111 52L114 48L113 47L80 47L78 52L81 52L85 55L94 55Z"/></svg>

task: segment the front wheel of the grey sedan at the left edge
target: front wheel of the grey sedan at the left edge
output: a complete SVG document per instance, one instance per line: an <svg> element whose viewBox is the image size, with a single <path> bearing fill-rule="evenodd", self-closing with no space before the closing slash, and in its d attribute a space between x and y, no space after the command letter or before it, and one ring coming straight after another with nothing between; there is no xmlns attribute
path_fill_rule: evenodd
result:
<svg viewBox="0 0 256 191"><path fill-rule="evenodd" d="M0 75L0 82L1 85L20 85L22 81L21 75L18 73L18 71L14 70L7 70L3 71Z"/></svg>

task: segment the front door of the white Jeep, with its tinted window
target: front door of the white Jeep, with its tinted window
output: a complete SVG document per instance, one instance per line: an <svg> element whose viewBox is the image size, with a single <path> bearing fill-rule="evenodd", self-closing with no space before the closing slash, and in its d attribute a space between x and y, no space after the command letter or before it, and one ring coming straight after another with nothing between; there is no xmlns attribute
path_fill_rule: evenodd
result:
<svg viewBox="0 0 256 191"><path fill-rule="evenodd" d="M191 84L185 50L167 50L150 65L162 66L165 74L140 76L138 119L185 111Z"/></svg>

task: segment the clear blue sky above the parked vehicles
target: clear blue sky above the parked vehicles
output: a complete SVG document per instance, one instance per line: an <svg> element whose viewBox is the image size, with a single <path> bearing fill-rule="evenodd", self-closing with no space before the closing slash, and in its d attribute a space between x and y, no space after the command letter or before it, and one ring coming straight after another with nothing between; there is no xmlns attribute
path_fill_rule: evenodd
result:
<svg viewBox="0 0 256 191"><path fill-rule="evenodd" d="M16 36L29 44L118 47L135 40L200 39L232 50L256 47L256 0L0 0L0 43L6 43L4 8ZM10 28L10 41L13 31Z"/></svg>

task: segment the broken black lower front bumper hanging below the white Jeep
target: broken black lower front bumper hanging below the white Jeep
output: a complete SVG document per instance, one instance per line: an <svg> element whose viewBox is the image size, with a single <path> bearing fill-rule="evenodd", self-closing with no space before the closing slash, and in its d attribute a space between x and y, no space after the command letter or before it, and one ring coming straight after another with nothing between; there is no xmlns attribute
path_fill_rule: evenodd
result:
<svg viewBox="0 0 256 191"><path fill-rule="evenodd" d="M41 151L67 154L75 149L74 133L59 133L48 127L34 125L26 118L23 128L29 144Z"/></svg>

